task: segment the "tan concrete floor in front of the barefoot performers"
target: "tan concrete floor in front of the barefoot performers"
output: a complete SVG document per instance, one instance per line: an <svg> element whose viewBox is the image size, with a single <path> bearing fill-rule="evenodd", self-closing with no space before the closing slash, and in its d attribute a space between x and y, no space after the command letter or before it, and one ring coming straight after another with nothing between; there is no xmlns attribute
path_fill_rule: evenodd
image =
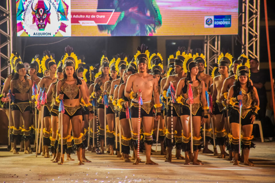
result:
<svg viewBox="0 0 275 183"><path fill-rule="evenodd" d="M256 149L250 151L254 167L243 164L233 166L226 159L212 154L199 154L204 166L184 165L184 160L172 158L164 162L164 156L153 153L152 160L159 165L132 165L116 156L97 155L86 152L91 163L77 165L77 161L66 161L64 165L52 163L50 158L35 157L35 154L13 155L0 146L0 183L20 182L275 182L275 142L254 142ZM209 147L213 148L213 147ZM154 148L153 148L154 149ZM175 154L173 150L173 154ZM184 153L182 152L182 155ZM75 154L72 158L77 160Z"/></svg>

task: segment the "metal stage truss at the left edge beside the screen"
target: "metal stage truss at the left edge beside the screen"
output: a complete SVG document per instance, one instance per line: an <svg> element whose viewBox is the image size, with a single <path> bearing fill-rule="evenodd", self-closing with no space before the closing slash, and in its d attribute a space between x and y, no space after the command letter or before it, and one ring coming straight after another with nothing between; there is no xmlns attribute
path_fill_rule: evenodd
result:
<svg viewBox="0 0 275 183"><path fill-rule="evenodd" d="M9 57L11 55L12 51L12 18L11 18L11 1L6 1L6 7L0 6L0 16L1 21L0 25L3 25L3 27L7 27L6 30L0 29L0 35L1 35L1 45L0 45L0 76L1 76L1 84L3 81L5 81L6 77L3 77L1 72L7 69L7 73L11 73L11 67L9 63ZM4 39L4 40L3 40ZM5 51L4 51L5 50ZM1 60L5 60L5 65L1 65ZM0 88L2 85L0 85Z"/></svg>

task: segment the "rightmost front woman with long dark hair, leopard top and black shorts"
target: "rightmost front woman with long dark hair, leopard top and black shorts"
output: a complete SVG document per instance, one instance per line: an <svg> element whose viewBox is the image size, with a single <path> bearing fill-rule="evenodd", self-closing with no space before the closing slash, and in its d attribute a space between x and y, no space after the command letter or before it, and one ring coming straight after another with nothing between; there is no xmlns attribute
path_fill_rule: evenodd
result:
<svg viewBox="0 0 275 183"><path fill-rule="evenodd" d="M248 160L249 151L254 144L251 142L253 139L252 128L255 120L255 116L258 113L259 97L257 90L251 85L250 77L250 63L247 60L246 63L237 66L236 81L233 86L230 87L228 92L227 104L233 106L229 114L229 122L231 125L232 136L230 137L231 150L234 153L234 164L239 165L239 100L242 101L241 107L241 130L242 130L242 144L244 165L254 166L252 162ZM240 94L241 91L241 94Z"/></svg>

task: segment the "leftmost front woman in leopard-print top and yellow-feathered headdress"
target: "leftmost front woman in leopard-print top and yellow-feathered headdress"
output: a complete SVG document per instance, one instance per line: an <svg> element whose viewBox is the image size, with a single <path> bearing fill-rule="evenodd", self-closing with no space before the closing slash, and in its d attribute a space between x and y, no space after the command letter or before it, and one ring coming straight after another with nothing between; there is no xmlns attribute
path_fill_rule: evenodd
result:
<svg viewBox="0 0 275 183"><path fill-rule="evenodd" d="M13 117L13 132L12 132L12 139L13 142L13 154L18 154L16 149L16 141L19 138L19 122L20 117L22 115L23 118L23 139L24 139L24 154L30 154L28 147L30 146L30 103L32 97L32 80L26 77L26 69L22 63L22 60L19 57L14 57L14 76L11 80L10 88L11 93L14 94L14 101L12 101L12 117Z"/></svg>

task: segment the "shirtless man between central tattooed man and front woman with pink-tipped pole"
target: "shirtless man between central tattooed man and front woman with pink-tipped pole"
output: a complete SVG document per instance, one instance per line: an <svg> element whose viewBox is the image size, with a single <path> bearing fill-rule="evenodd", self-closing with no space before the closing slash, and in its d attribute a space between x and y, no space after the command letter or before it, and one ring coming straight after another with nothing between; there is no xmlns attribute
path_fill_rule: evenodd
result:
<svg viewBox="0 0 275 183"><path fill-rule="evenodd" d="M186 73L183 70L183 61L184 61L184 55L185 52L181 52L178 51L177 52L177 56L174 60L174 69L175 69L175 75L170 75L167 77L166 83L163 87L163 91L167 90L170 86L170 82L173 83L173 86L176 90L178 82L180 81L180 79L186 77ZM176 101L175 103L173 103L173 131L177 130L177 134L175 134L178 137L178 142L177 139L175 138L176 144L181 144L182 139L180 139L180 136L182 137L182 127L181 125L177 126L178 121L180 120L180 113L181 113L181 107L180 104L178 104ZM179 121L180 122L180 121ZM178 127L178 128L177 128ZM166 160L165 162L171 162L172 161L172 128L171 128L171 100L168 101L168 107L167 107L167 129L168 129L168 133L166 134L166 142L167 143L167 155L166 155ZM174 134L174 132L173 132ZM181 148L177 148L176 146L176 156L177 159L184 159L184 157L182 157L180 155L180 151Z"/></svg>

